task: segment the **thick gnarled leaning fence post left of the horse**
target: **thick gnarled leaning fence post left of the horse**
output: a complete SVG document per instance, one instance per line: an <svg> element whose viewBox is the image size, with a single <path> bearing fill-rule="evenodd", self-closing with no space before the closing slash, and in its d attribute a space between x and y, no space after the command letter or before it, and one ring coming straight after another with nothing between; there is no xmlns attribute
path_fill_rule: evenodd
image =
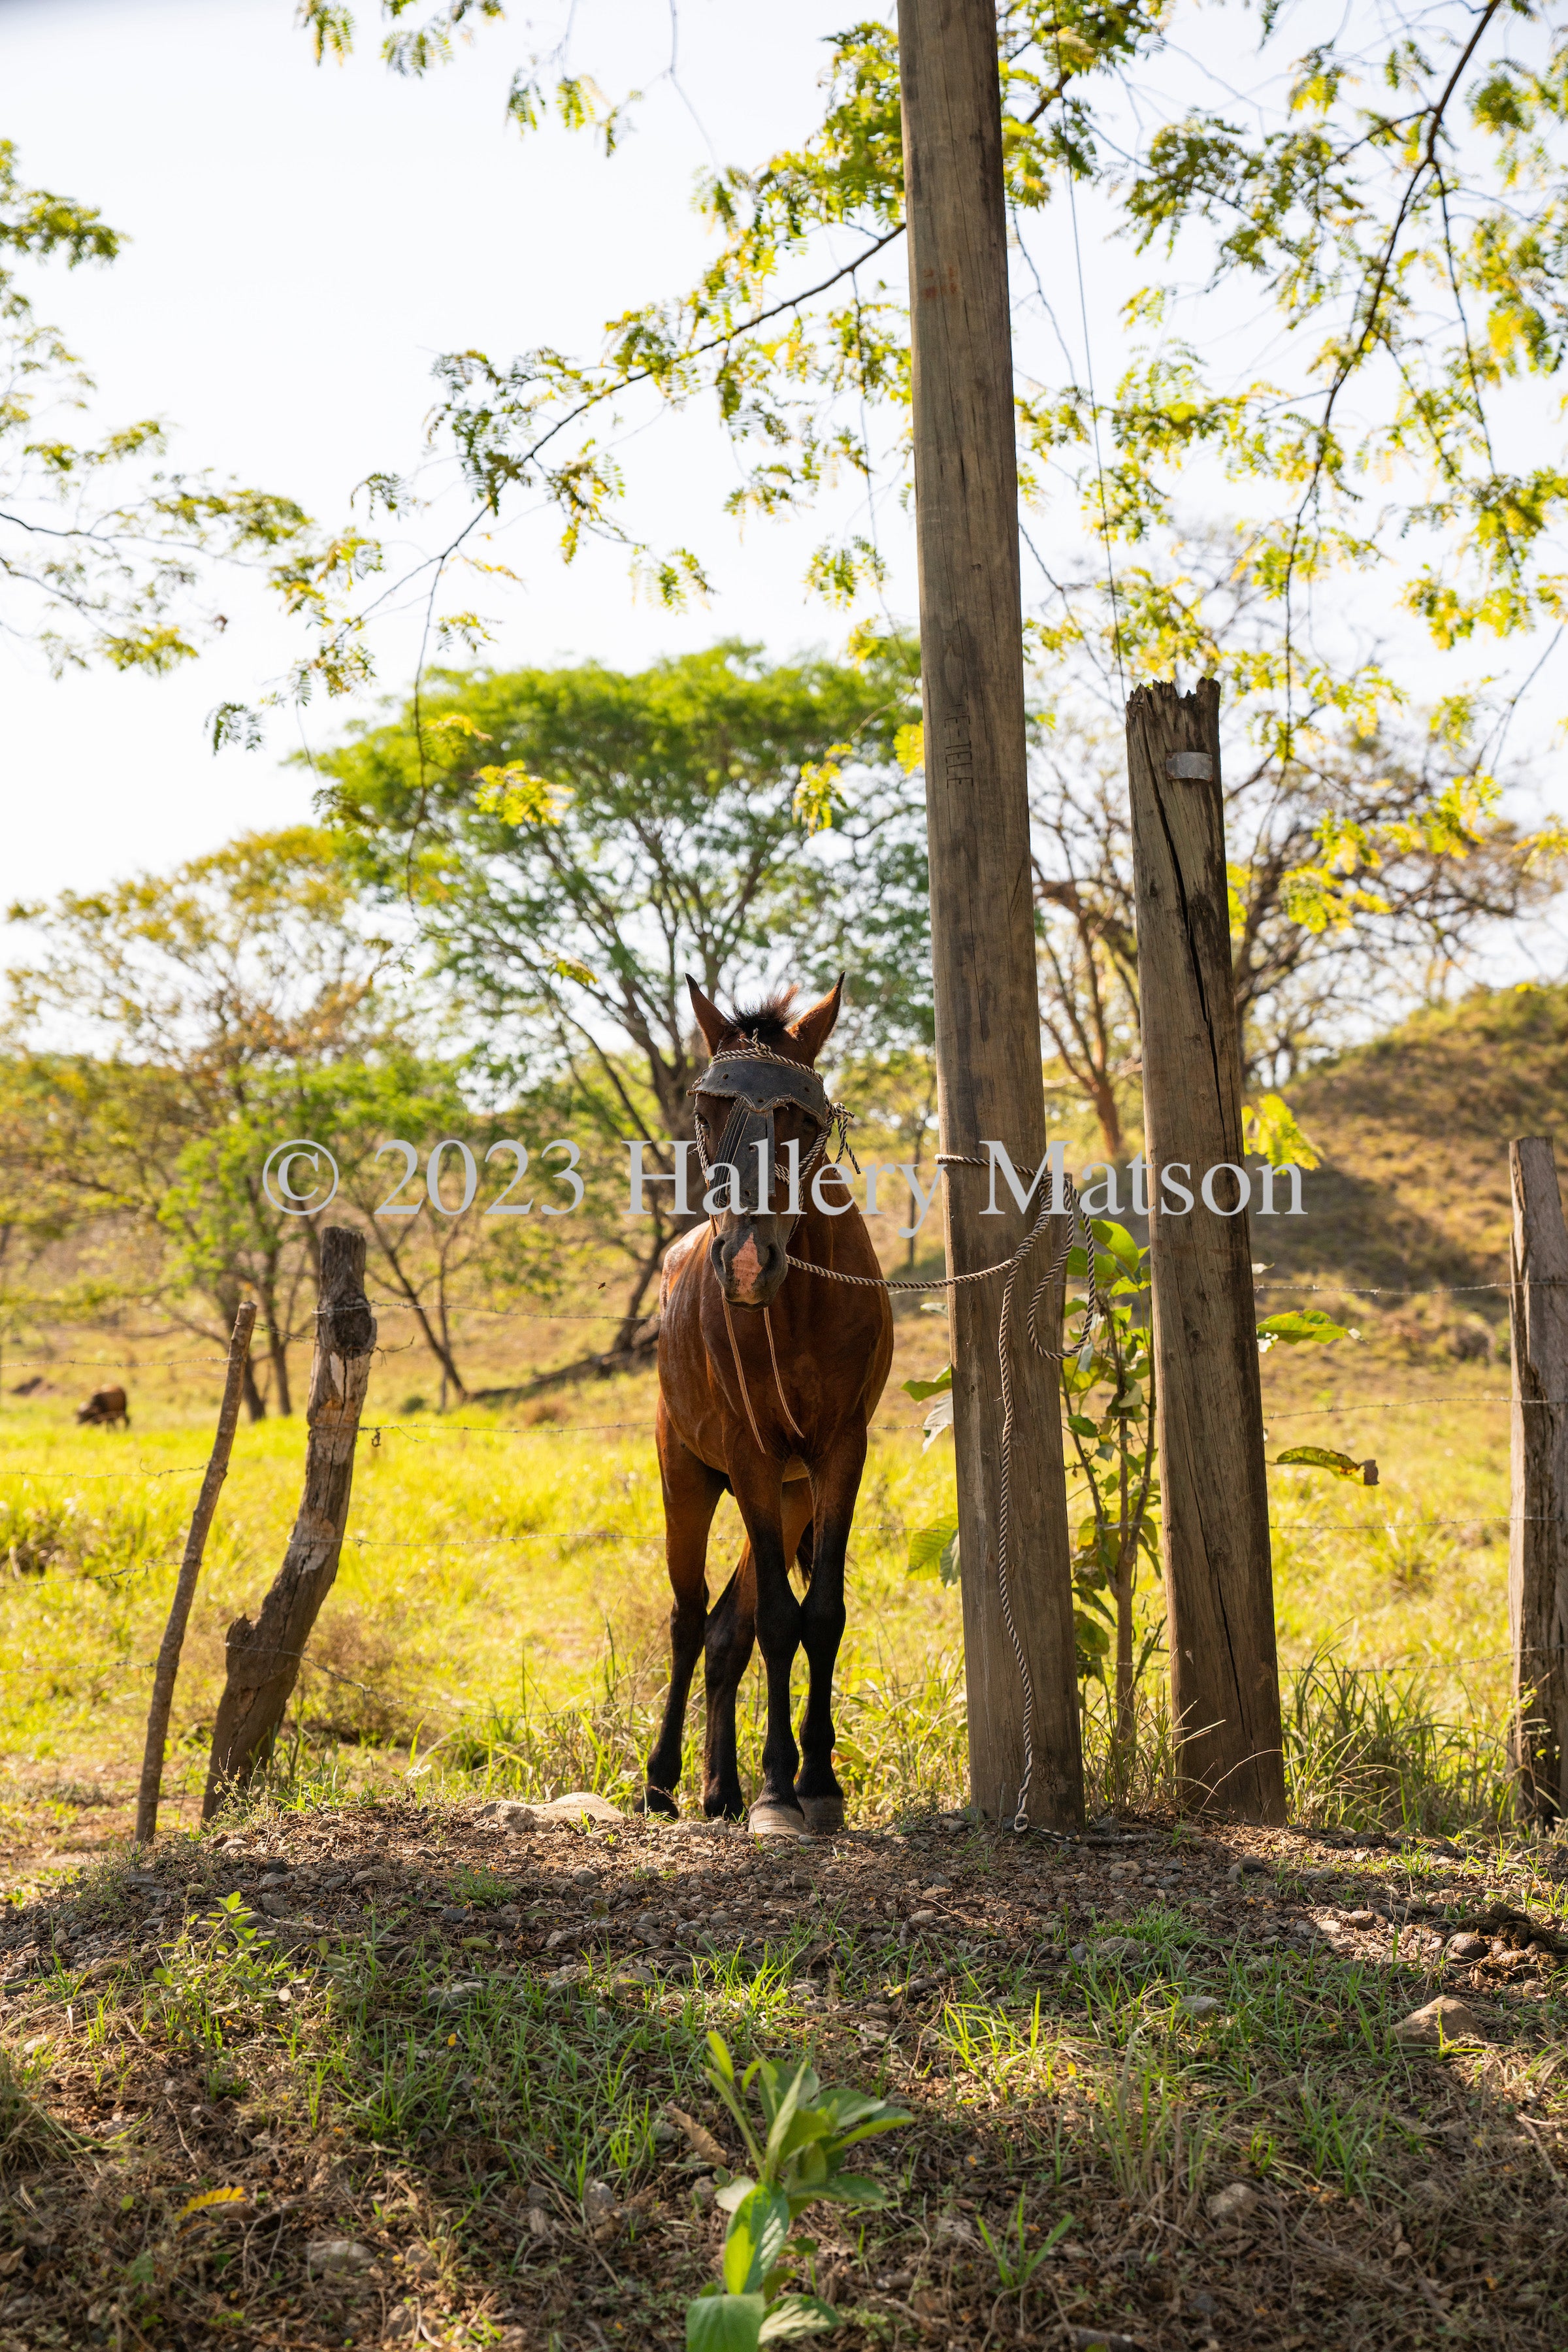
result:
<svg viewBox="0 0 1568 2352"><path fill-rule="evenodd" d="M374 1345L376 1317L364 1296L364 1235L327 1225L306 1404L306 1489L261 1616L254 1625L237 1618L228 1628L228 1682L212 1731L202 1820L212 1820L223 1799L273 1752L310 1628L339 1573Z"/></svg>

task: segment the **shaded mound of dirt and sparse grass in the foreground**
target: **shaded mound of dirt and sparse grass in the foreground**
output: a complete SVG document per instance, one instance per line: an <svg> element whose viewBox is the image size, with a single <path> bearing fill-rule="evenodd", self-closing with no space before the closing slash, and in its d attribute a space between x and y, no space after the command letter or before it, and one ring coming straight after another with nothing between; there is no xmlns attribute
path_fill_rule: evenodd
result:
<svg viewBox="0 0 1568 2352"><path fill-rule="evenodd" d="M914 2114L813 2216L844 2345L1544 2352L1559 1860L263 1806L5 1931L0 2343L677 2345L719 2027ZM1436 1990L1483 2044L1399 2044Z"/></svg>

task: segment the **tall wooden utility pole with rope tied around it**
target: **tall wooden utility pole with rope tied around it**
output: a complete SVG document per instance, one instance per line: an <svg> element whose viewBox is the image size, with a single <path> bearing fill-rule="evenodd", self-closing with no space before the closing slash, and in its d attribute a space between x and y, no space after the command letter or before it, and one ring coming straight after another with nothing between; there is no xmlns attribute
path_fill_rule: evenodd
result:
<svg viewBox="0 0 1568 2352"><path fill-rule="evenodd" d="M1046 1150L992 0L898 0L898 73L938 1120L943 1155L959 1162L947 1167L947 1270L964 1275L1004 1258L1039 1211L1039 1195L1020 1214L1001 1185L1004 1214L987 1216L987 1171L966 1162L985 1160L985 1141L1004 1143L1027 1183ZM997 1581L999 1312L999 1282L952 1294L969 1783L985 1816L1011 1818L1025 1733ZM1034 1696L1030 1816L1070 1828L1084 1811L1084 1766L1058 1374L1020 1322L1009 1588Z"/></svg>

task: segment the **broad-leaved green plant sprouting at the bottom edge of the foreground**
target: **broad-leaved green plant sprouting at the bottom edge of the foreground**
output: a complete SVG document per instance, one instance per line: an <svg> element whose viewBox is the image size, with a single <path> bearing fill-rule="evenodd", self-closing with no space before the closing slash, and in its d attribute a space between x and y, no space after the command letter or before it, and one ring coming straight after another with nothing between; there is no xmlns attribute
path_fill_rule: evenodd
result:
<svg viewBox="0 0 1568 2352"><path fill-rule="evenodd" d="M884 2206L882 2183L844 2171L844 2157L860 2140L896 2131L912 2117L849 2084L825 2091L804 2058L788 2077L771 2058L755 2058L736 2077L719 2034L708 2034L708 2082L741 2129L755 2178L738 2173L719 2190L729 2213L724 2277L686 2305L686 2347L755 2352L795 2336L820 2336L839 2324L835 2307L820 2296L785 2293L792 2265L816 2253L811 2239L792 2237L795 2220L823 2197L860 2209ZM752 2086L762 2136L748 2114Z"/></svg>

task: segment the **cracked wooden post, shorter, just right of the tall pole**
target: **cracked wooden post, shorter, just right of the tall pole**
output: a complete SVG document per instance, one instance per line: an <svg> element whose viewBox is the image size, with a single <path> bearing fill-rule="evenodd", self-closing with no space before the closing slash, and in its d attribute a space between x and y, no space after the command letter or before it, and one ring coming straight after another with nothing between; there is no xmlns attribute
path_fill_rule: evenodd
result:
<svg viewBox="0 0 1568 2352"><path fill-rule="evenodd" d="M1229 962L1220 689L1126 706L1150 1160L1161 1552L1182 1799L1286 1818L1241 1051ZM1192 1207L1161 1204L1161 1174ZM1232 1174L1211 1174L1229 1169ZM1208 1195L1208 1197L1206 1197ZM1180 1207L1180 1195L1173 1192Z"/></svg>

